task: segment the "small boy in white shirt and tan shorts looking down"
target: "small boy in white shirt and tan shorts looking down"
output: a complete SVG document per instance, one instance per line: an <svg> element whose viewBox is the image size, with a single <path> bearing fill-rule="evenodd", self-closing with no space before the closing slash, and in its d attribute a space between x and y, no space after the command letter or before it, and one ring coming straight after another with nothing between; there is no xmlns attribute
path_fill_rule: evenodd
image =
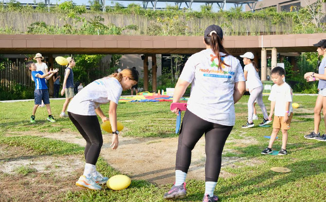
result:
<svg viewBox="0 0 326 202"><path fill-rule="evenodd" d="M273 120L273 131L270 139L270 143L261 154L272 153L272 146L276 139L278 131L282 130L282 147L278 152L278 155L288 154L286 146L288 142L288 129L290 129L290 123L293 116L292 110L292 89L286 82L283 81L285 76L285 70L282 67L275 67L272 69L272 86L269 100L271 100L271 112L268 117L272 120L273 112L275 109Z"/></svg>

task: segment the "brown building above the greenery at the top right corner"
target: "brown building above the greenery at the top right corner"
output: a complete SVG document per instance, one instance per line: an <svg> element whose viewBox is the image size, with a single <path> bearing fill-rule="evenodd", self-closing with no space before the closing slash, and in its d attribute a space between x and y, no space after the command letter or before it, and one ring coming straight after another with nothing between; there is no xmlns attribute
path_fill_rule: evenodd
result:
<svg viewBox="0 0 326 202"><path fill-rule="evenodd" d="M317 0L260 0L257 2L254 9L252 7L246 5L246 11L252 10L261 10L264 8L275 7L277 12L288 11L290 12L291 6L306 7ZM326 12L326 2L322 3L322 12Z"/></svg>

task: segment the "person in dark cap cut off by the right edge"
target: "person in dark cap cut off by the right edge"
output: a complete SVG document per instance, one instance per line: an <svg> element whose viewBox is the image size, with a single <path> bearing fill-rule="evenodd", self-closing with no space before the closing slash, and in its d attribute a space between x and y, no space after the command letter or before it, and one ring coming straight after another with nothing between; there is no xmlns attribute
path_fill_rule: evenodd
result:
<svg viewBox="0 0 326 202"><path fill-rule="evenodd" d="M314 131L310 134L305 135L307 139L316 139L319 141L326 141L326 133L320 136L319 133L319 123L320 123L320 112L323 108L324 123L326 128L326 39L320 40L318 43L313 44L313 46L318 47L318 55L323 55L322 62L319 65L318 73L308 72L305 73L305 79L309 81L319 81L318 82L318 97L316 100L316 105L314 108Z"/></svg>

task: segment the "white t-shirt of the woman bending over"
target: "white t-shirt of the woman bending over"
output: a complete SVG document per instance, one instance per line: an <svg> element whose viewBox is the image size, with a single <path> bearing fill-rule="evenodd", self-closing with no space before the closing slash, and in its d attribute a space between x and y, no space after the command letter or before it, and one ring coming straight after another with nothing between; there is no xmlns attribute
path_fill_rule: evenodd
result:
<svg viewBox="0 0 326 202"><path fill-rule="evenodd" d="M113 77L95 80L78 92L69 103L68 111L79 115L96 115L95 109L110 101L118 104L122 93L120 82Z"/></svg>

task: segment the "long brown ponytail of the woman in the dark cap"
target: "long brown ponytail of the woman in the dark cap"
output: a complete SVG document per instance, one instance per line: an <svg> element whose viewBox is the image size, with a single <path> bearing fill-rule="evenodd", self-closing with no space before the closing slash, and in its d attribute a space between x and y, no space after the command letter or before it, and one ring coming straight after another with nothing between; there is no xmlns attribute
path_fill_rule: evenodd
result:
<svg viewBox="0 0 326 202"><path fill-rule="evenodd" d="M205 43L207 45L211 46L211 49L215 53L218 59L218 69L221 70L221 64L230 67L230 65L227 65L224 61L221 61L221 55L219 55L219 52L224 53L223 56L230 55L229 52L224 48L222 45L222 38L220 38L215 32L212 33L212 35L209 35L207 37L204 37Z"/></svg>

